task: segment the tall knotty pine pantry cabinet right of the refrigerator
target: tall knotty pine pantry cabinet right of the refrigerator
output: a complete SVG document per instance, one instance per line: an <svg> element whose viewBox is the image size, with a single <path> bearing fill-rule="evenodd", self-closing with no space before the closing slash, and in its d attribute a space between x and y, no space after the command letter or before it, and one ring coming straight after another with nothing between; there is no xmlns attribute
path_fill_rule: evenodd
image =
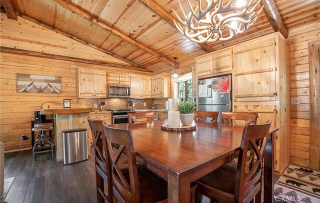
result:
<svg viewBox="0 0 320 203"><path fill-rule="evenodd" d="M257 123L272 121L275 132L274 169L289 164L289 46L280 33L233 46L232 97L236 112L257 112Z"/></svg>

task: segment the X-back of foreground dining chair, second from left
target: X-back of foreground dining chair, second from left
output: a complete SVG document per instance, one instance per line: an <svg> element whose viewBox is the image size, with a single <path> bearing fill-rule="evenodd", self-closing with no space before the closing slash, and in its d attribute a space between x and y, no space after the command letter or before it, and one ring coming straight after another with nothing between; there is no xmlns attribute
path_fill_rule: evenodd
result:
<svg viewBox="0 0 320 203"><path fill-rule="evenodd" d="M131 132L128 129L117 129L106 125L104 131L111 161L113 195L119 202L139 202L139 179ZM127 158L129 176L119 167L118 160L121 155Z"/></svg>

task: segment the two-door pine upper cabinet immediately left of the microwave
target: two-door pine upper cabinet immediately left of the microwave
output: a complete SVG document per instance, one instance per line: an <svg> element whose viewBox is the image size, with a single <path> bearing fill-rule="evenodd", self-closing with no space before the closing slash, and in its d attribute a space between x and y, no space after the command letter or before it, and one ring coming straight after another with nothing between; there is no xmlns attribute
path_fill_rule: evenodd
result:
<svg viewBox="0 0 320 203"><path fill-rule="evenodd" d="M107 97L105 71L78 68L77 82L79 98Z"/></svg>

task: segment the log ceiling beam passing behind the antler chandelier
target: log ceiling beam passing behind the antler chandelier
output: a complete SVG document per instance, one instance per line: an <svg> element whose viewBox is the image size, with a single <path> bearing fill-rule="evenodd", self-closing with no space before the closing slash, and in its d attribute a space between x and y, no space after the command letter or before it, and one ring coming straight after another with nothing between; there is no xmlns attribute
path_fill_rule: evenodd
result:
<svg viewBox="0 0 320 203"><path fill-rule="evenodd" d="M168 12L162 5L160 5L158 2L155 0L139 0L141 1L144 5L146 5L150 10L155 12L157 15L159 15L162 19L167 21L169 24L171 24L174 28L174 21L178 21L175 16L171 15L170 12ZM192 41L193 42L193 41ZM195 42L193 42L195 43ZM202 50L205 52L209 53L214 51L214 49L207 45L206 43L195 43L198 47L200 47Z"/></svg>

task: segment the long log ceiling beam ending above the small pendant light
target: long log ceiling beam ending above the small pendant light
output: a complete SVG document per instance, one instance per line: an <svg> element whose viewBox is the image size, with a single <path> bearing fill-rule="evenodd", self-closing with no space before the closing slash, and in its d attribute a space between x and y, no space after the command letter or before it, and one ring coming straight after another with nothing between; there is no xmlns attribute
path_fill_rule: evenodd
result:
<svg viewBox="0 0 320 203"><path fill-rule="evenodd" d="M87 19L88 21L90 21L92 24L95 24L99 27L101 27L102 29L116 35L117 37L123 39L124 41L144 50L147 53L150 53L151 55L165 61L166 63L172 65L173 67L179 67L179 64L176 63L175 61L169 59L168 57L162 55L161 53L153 50L152 48L142 44L141 42L129 37L128 35L126 35L124 32L110 26L109 24L105 23L104 21L98 19L97 17L93 16L91 13L89 13L87 10L81 8L81 7L77 7L76 5L70 3L69 1L65 1L65 0L54 0L56 3L58 3L59 5L61 5L62 7L64 7L65 9L70 10L71 12L74 12L75 14Z"/></svg>

